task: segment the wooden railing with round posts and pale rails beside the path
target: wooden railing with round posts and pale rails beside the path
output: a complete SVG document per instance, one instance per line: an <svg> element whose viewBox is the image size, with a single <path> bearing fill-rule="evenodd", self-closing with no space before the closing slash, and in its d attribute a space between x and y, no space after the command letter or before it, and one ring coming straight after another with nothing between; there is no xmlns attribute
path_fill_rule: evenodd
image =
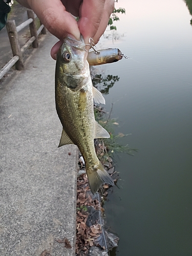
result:
<svg viewBox="0 0 192 256"><path fill-rule="evenodd" d="M42 24L37 30L35 26L36 15L34 14L34 12L28 9L27 15L28 19L26 20L26 22L20 24L17 27L15 25L15 20L8 20L6 24L9 41L13 53L13 58L0 71L0 79L13 67L14 64L17 70L23 70L25 68L23 53L29 48L31 44L33 48L38 48L38 35L40 34L40 32L42 34L46 34L46 28ZM26 44L22 48L20 48L18 41L18 32L28 25L30 28L31 38L26 42Z"/></svg>

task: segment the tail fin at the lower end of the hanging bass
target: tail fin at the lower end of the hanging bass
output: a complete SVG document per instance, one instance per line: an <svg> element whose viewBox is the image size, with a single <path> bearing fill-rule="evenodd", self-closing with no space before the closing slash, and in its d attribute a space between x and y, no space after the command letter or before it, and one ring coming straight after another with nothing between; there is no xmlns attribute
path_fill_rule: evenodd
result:
<svg viewBox="0 0 192 256"><path fill-rule="evenodd" d="M89 172L89 169L87 169L87 175L89 179L90 188L93 194L95 194L99 187L104 183L108 183L112 186L115 185L113 179L103 168L101 162L99 162L99 167L96 171L90 169Z"/></svg>

